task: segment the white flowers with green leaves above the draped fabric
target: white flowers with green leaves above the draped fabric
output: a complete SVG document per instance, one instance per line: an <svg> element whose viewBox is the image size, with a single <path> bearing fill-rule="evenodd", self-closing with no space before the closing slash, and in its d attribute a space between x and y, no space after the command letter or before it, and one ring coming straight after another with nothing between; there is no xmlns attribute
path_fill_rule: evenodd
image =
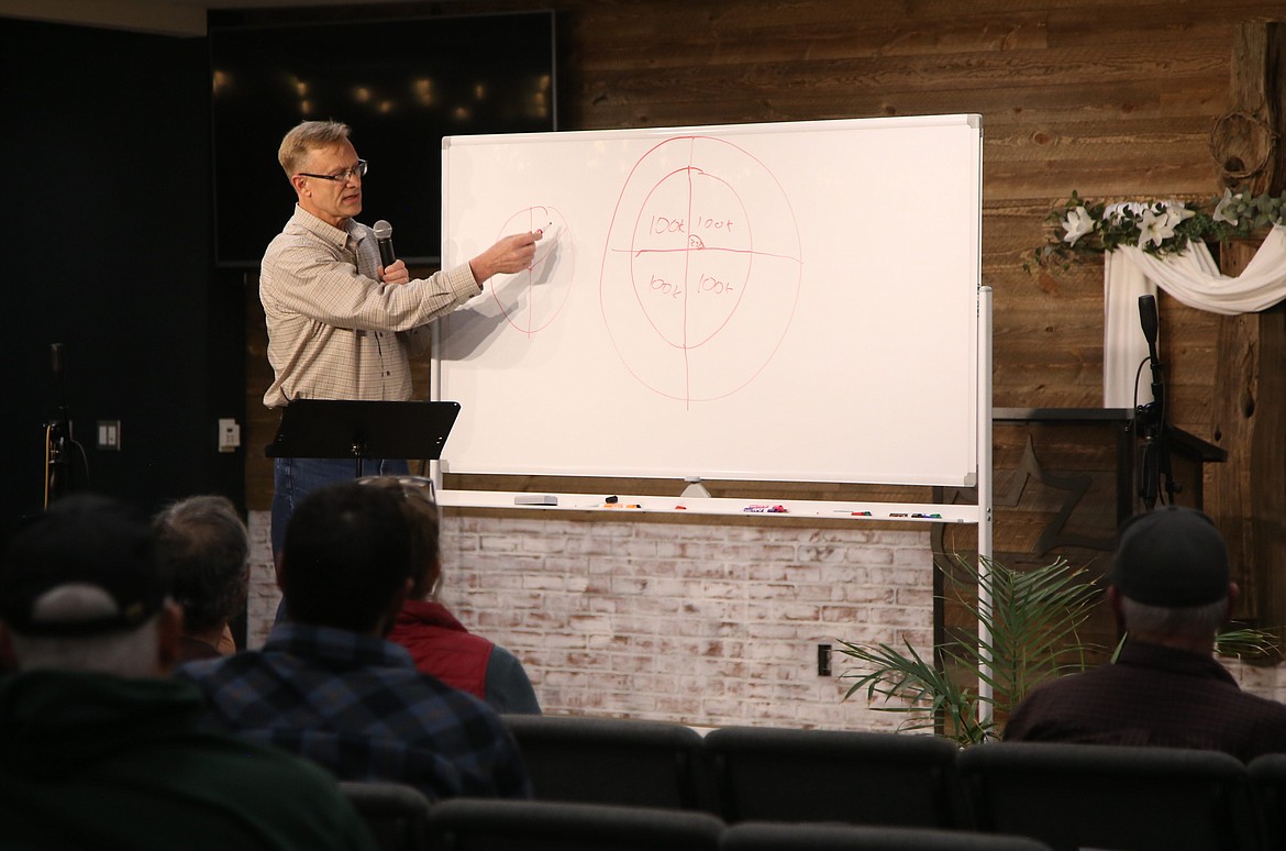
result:
<svg viewBox="0 0 1286 851"><path fill-rule="evenodd" d="M1195 239L1247 238L1283 221L1286 194L1250 195L1226 189L1222 197L1202 206L1177 199L1091 203L1073 192L1066 203L1046 216L1047 243L1034 252L1033 260L1038 266L1067 266L1083 256L1121 246L1161 257L1183 252Z"/></svg>

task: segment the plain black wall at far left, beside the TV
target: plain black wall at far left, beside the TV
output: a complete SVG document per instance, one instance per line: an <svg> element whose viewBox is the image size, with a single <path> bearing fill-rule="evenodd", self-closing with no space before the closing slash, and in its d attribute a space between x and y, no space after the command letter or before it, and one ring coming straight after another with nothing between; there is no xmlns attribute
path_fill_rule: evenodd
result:
<svg viewBox="0 0 1286 851"><path fill-rule="evenodd" d="M81 488L242 501L244 450L217 451L217 419L244 422L244 319L212 264L208 96L204 39L0 18L4 533L44 501L55 342Z"/></svg>

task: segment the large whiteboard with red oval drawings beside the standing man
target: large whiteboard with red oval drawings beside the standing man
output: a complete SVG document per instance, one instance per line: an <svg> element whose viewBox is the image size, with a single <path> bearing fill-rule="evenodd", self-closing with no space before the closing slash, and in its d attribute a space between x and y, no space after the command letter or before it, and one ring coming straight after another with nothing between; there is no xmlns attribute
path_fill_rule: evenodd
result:
<svg viewBox="0 0 1286 851"><path fill-rule="evenodd" d="M981 120L442 140L442 265L541 229L437 323L448 473L967 486Z"/></svg>

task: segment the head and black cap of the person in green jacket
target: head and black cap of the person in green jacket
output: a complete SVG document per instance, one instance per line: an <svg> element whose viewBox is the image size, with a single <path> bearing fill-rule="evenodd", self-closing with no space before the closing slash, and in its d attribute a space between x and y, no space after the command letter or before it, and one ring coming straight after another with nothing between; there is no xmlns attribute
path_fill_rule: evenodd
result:
<svg viewBox="0 0 1286 851"><path fill-rule="evenodd" d="M147 518L116 500L58 500L0 558L9 667L158 676L174 665L181 626Z"/></svg>

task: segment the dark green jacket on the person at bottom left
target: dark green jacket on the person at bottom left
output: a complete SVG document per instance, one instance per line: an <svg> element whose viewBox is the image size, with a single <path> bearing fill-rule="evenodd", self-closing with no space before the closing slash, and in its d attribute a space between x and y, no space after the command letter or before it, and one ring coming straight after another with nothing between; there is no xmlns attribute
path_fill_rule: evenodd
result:
<svg viewBox="0 0 1286 851"><path fill-rule="evenodd" d="M322 769L202 726L186 683L0 676L5 848L359 848L374 841Z"/></svg>

